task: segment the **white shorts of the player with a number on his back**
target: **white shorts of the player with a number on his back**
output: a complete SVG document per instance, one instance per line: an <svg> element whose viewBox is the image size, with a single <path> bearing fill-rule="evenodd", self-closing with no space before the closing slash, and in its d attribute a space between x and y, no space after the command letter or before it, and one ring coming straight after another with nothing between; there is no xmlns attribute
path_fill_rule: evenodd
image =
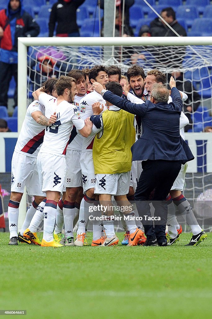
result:
<svg viewBox="0 0 212 319"><path fill-rule="evenodd" d="M51 190L62 194L66 172L65 157L38 153L37 165L43 192Z"/></svg>

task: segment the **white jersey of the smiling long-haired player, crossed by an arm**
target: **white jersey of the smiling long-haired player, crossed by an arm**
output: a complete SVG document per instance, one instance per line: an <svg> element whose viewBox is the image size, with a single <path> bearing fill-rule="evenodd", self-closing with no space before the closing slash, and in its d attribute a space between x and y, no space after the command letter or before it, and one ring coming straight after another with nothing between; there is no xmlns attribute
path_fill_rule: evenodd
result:
<svg viewBox="0 0 212 319"><path fill-rule="evenodd" d="M85 93L85 95L86 94L87 93ZM80 107L79 107L80 100L82 98L84 98L85 95L83 97L75 95L75 97L74 97L74 102L72 104L78 109L78 111L80 111ZM71 132L71 135L70 135L70 138L69 138L69 141L68 141L67 149L75 150L75 151L81 151L82 142L83 142L82 135L77 134L76 127L73 126L72 132Z"/></svg>

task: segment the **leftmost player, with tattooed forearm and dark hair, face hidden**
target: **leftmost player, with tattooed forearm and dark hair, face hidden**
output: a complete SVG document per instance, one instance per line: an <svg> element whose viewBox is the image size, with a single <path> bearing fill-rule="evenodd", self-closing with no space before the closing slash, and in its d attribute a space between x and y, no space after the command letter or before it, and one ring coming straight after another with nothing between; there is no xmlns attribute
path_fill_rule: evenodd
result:
<svg viewBox="0 0 212 319"><path fill-rule="evenodd" d="M54 94L56 82L56 79L47 80L44 83L44 92ZM12 156L11 194L8 205L9 245L17 245L18 241L31 244L31 240L23 236L24 230L29 226L38 205L45 198L39 183L36 159L44 138L44 126L53 124L56 117L52 115L47 118L44 112L44 106L38 100L34 100L28 106ZM24 186L29 195L35 196L35 200L27 210L22 229L17 235L19 204L24 193Z"/></svg>

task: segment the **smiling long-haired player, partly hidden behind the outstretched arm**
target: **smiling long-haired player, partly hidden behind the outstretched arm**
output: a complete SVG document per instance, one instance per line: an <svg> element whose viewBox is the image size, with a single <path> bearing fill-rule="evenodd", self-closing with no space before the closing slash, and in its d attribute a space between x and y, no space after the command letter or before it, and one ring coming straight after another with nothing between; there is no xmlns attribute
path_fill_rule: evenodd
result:
<svg viewBox="0 0 212 319"><path fill-rule="evenodd" d="M71 70L69 77L76 80L77 94L74 96L73 104L78 112L84 112L85 107L79 107L80 100L87 94L86 75L81 70ZM77 134L74 126L67 146L66 175L65 175L65 199L61 199L57 206L56 227L54 230L54 238L57 241L62 239L63 221L65 224L65 246L74 246L73 222L79 218L80 202L83 198L82 191L82 175L80 167L80 155L82 150L83 137ZM64 195L63 195L64 197ZM78 197L78 201L77 201ZM64 202L63 202L64 201ZM61 208L63 207L63 211Z"/></svg>

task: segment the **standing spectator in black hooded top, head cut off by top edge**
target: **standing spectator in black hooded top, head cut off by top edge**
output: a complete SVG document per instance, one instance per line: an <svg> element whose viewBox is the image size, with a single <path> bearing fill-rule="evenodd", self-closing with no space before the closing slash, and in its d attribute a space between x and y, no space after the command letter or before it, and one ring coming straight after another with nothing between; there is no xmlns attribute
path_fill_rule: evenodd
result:
<svg viewBox="0 0 212 319"><path fill-rule="evenodd" d="M57 22L57 37L79 37L77 25L77 8L85 0L59 0L51 8L49 18L49 37L53 37Z"/></svg>

